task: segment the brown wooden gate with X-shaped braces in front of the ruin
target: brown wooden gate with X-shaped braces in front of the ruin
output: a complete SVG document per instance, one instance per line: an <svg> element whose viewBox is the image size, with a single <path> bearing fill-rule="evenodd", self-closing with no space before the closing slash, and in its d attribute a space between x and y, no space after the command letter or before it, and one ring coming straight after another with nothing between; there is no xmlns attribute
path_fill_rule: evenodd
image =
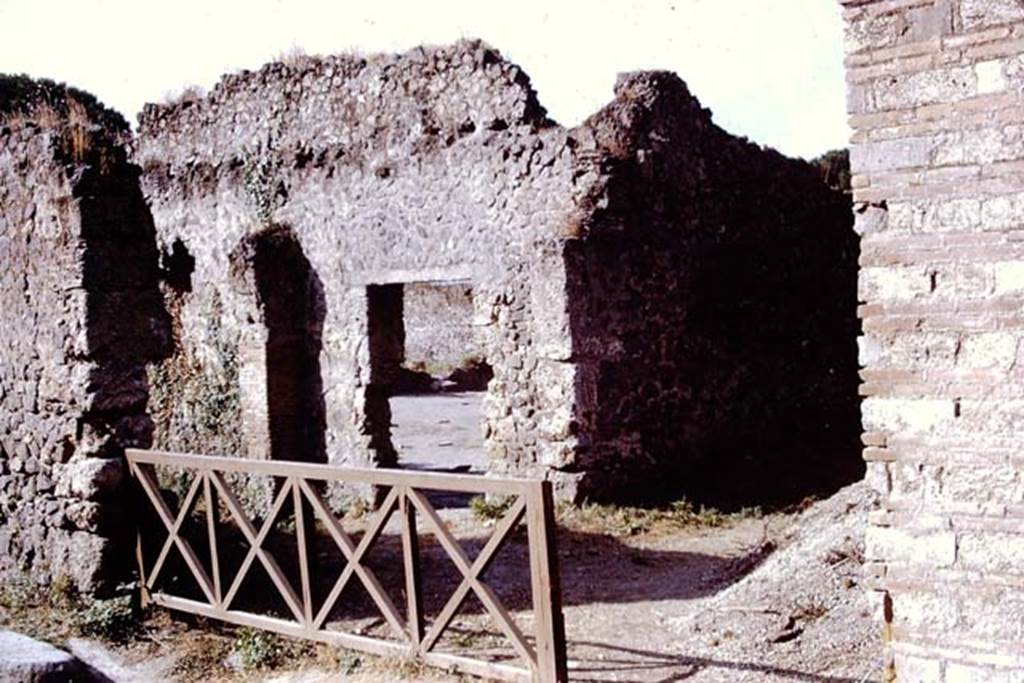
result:
<svg viewBox="0 0 1024 683"><path fill-rule="evenodd" d="M136 555L143 603L152 602L171 609L383 656L416 656L432 666L477 676L545 683L566 680L565 635L555 556L550 482L386 469L348 469L297 462L240 460L155 451L129 450L127 458L132 475L144 492L144 500L152 504L168 533L156 557L146 557L143 548L151 540L143 538L145 531L139 525ZM160 489L155 466L168 466L193 473L176 512L168 504L167 499L171 497ZM225 474L229 476L225 477ZM276 483L273 502L259 527L250 519L243 503L232 492L229 484L232 475L265 475L274 478ZM324 487L322 482L332 481L371 484L377 486L378 490L386 492L383 503L374 511L358 542L342 527L341 521L321 493ZM512 502L495 525L489 540L476 558L471 560L424 494L427 490L493 494L509 497ZM182 533L193 507L201 499L205 503L202 507L205 507L208 562L201 560L193 544ZM282 570L279 563L281 558L274 556L272 549L264 546L274 526L274 520L283 510L287 512L286 506L289 505L294 510L295 523L291 532L295 535L294 545L298 556L298 590ZM227 510L248 546L244 560L233 577L223 575L226 572L223 570L218 542L225 527L225 520L220 519L218 514L218 510L222 509ZM396 607L378 577L365 562L367 552L382 537L385 526L395 513L399 518L401 537L406 597L403 612ZM426 530L436 538L438 545L461 574L458 588L429 623L424 613L421 585L418 517L422 518ZM528 538L534 612L531 637L523 633L483 579L484 571L495 561L498 551L523 519ZM343 570L321 604L314 604L310 583L311 571L316 568L313 566L314 561L311 562L313 558L310 556L309 538L314 521L318 521L326 529L345 562ZM167 566L172 547L180 552L187 571L199 585L205 599L171 595L158 584L162 570ZM287 604L288 611L291 612L290 618L232 607L243 581L257 561L264 567ZM390 627L394 639L327 628L329 615L353 577L372 598L380 615ZM438 640L470 593L478 598L494 624L511 643L518 665L515 664L515 658L510 664L435 651Z"/></svg>

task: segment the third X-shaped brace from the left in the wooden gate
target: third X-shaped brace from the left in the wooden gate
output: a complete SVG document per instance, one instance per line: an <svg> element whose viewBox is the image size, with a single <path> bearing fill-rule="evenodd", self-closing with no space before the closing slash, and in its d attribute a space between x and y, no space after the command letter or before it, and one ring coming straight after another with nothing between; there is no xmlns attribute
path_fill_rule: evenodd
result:
<svg viewBox="0 0 1024 683"><path fill-rule="evenodd" d="M377 604L378 609L381 610L381 614L387 621L388 625L394 631L395 635L402 640L408 639L410 634L406 628L401 616L398 614L398 609L394 606L394 602L388 597L387 592L384 587L381 586L377 577L362 565L362 556L366 555L370 547L377 541L381 532L384 530L384 525L387 523L388 519L391 518L392 513L395 509L395 504L398 500L397 488L392 488L388 492L388 495L384 498L384 503L381 505L380 510L377 512L376 518L371 522L369 528L359 539L358 545L352 542L351 537L345 532L342 528L341 523L335 518L335 516L329 511L327 503L324 499L309 485L305 480L300 479L299 485L302 488L302 493L305 494L306 498L313 506L313 513L317 515L324 524L327 526L328 532L331 538L337 544L338 548L341 550L342 554L345 556L346 564L345 568L342 569L341 575L338 577L338 581L335 582L334 587L328 594L326 600L324 600L324 605L321 607L319 612L317 612L316 617L313 620L313 628L319 629L324 622L327 621L328 615L331 610L334 609L335 603L341 596L345 586L348 585L348 581L352 578L354 573L362 582L362 586L367 589L370 597Z"/></svg>

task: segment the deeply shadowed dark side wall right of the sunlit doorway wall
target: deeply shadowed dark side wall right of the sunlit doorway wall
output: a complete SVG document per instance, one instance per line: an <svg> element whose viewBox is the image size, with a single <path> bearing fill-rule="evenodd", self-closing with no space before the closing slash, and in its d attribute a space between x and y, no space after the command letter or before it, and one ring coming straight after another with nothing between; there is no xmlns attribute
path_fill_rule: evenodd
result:
<svg viewBox="0 0 1024 683"><path fill-rule="evenodd" d="M717 128L671 73L570 133L604 173L566 244L581 444L599 498L799 501L859 478L849 199Z"/></svg>

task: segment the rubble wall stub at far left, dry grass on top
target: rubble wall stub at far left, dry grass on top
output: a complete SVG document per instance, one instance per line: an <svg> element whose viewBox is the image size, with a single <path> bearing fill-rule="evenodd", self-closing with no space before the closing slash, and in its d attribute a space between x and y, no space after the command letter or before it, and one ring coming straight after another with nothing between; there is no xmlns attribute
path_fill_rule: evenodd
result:
<svg viewBox="0 0 1024 683"><path fill-rule="evenodd" d="M167 350L127 126L0 77L0 578L110 590L127 574L126 446L150 443L144 365Z"/></svg>

